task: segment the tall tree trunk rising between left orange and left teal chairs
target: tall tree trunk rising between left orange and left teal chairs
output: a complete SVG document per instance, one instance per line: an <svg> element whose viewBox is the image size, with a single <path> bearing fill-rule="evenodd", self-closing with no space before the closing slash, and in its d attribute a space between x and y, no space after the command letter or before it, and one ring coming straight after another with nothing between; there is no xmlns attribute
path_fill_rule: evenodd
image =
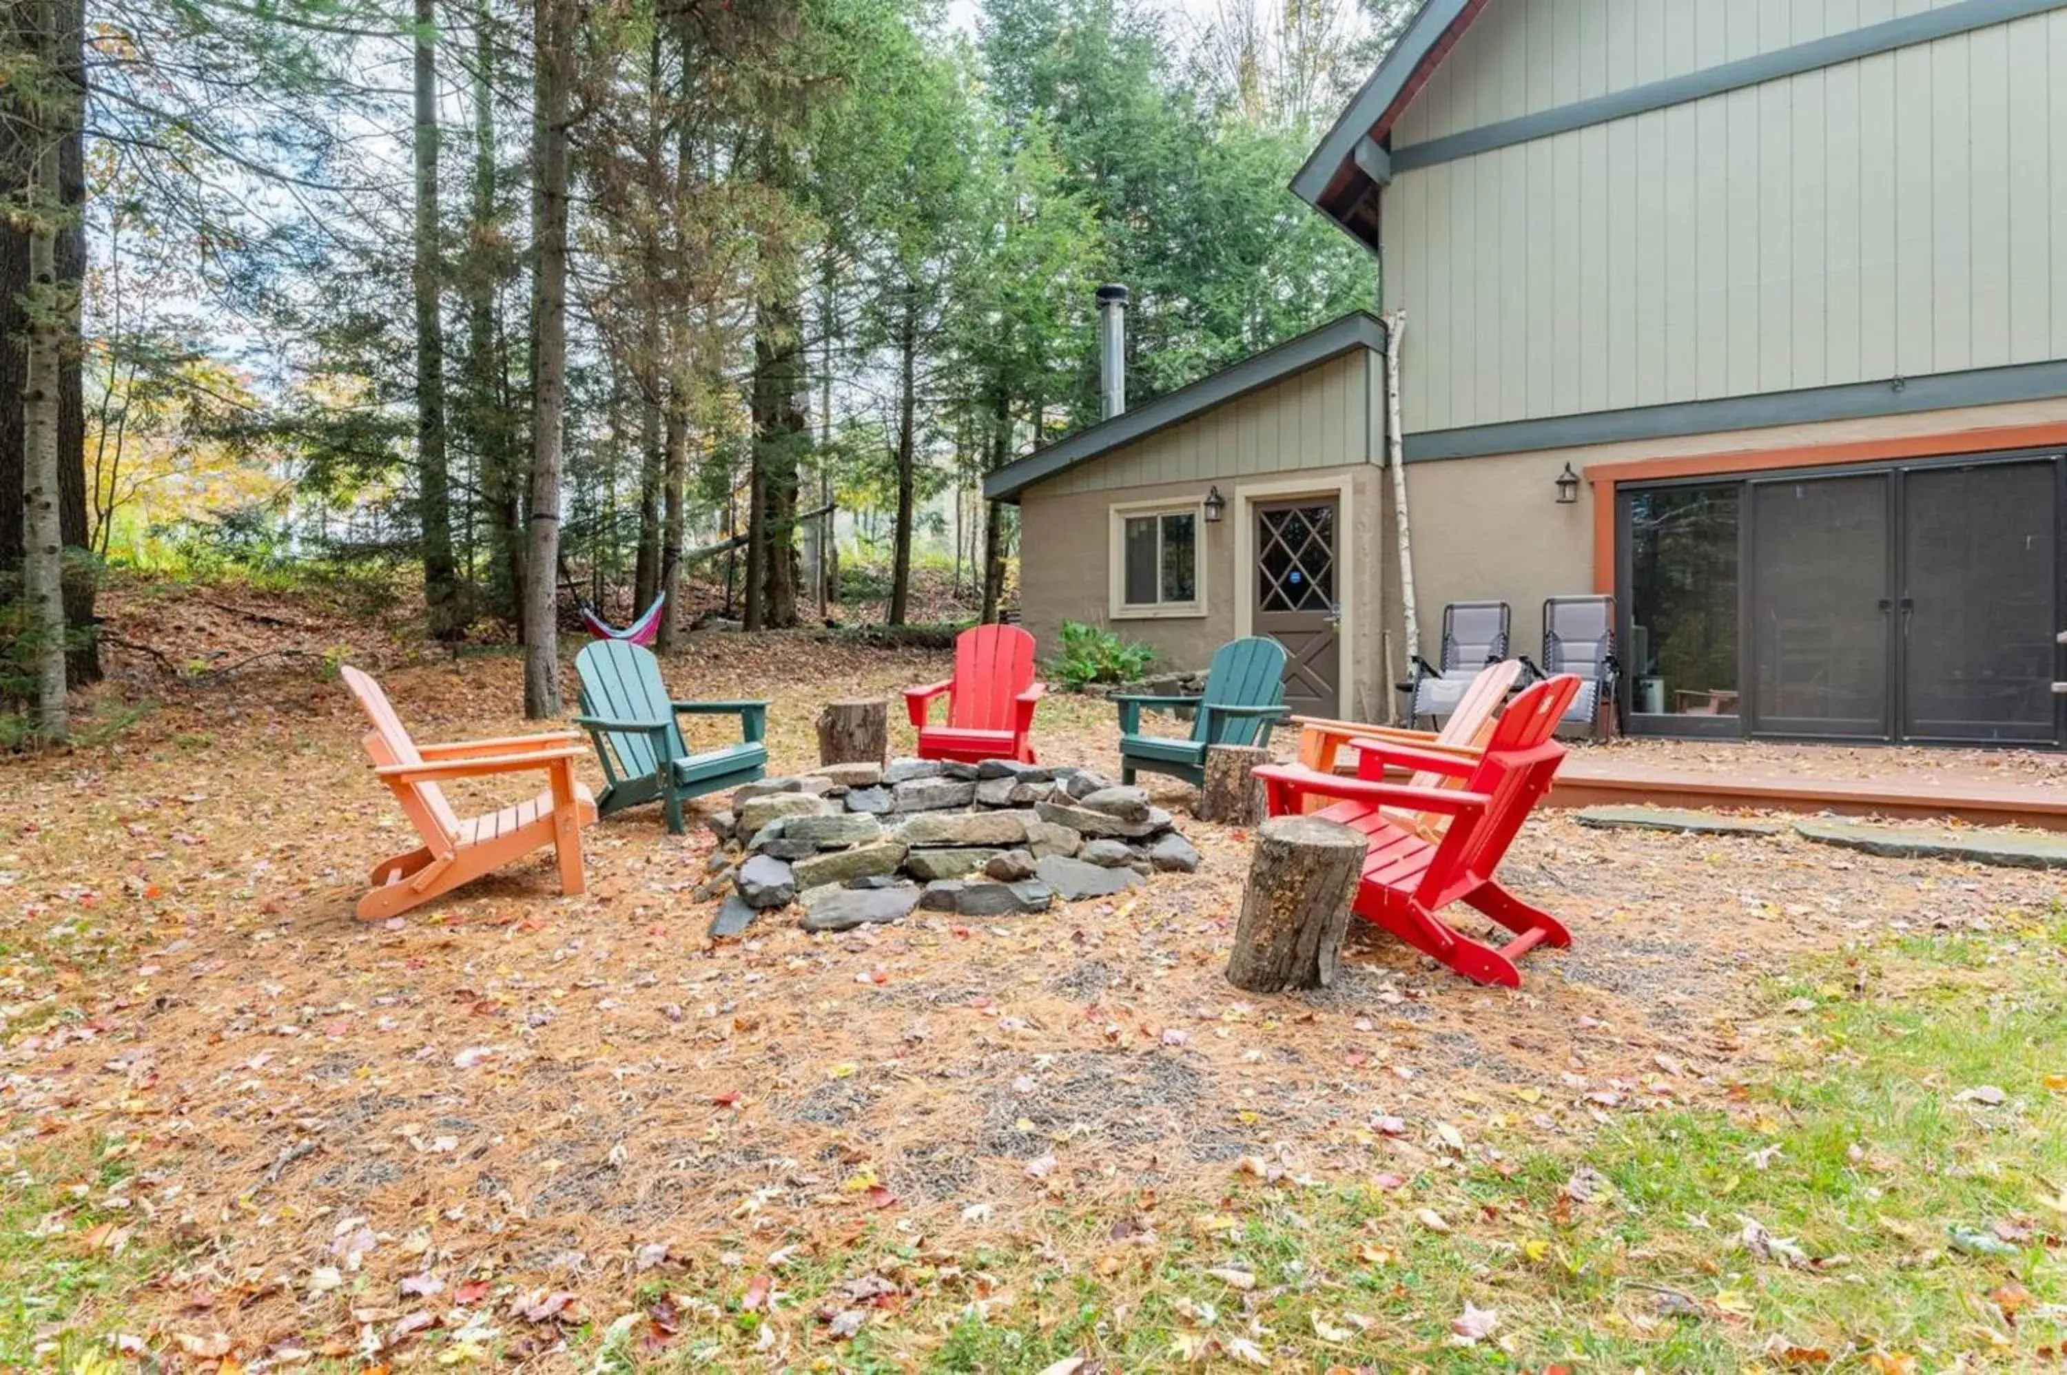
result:
<svg viewBox="0 0 2067 1375"><path fill-rule="evenodd" d="M537 0L537 122L533 126L531 298L537 345L531 387L531 529L523 583L523 711L560 715L560 426L566 395L566 122L575 81L570 0Z"/></svg>

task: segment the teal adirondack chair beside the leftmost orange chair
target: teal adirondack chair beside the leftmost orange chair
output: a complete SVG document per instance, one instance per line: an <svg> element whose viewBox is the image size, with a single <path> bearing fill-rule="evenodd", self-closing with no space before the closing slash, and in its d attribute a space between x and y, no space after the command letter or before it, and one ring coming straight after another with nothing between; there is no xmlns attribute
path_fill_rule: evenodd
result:
<svg viewBox="0 0 2067 1375"><path fill-rule="evenodd" d="M670 701L659 660L622 639L599 639L575 655L581 715L608 786L595 798L604 817L659 800L668 831L682 833L682 798L750 784L767 771L765 701ZM740 744L692 755L676 715L738 715Z"/></svg>

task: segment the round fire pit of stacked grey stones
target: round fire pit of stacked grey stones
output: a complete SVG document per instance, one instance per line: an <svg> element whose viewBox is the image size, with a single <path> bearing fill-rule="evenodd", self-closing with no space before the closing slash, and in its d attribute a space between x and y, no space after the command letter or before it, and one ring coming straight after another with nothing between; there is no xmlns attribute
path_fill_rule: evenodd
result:
<svg viewBox="0 0 2067 1375"><path fill-rule="evenodd" d="M1199 852L1141 788L1009 759L835 763L746 784L707 825L723 858L703 891L732 889L713 937L792 904L804 930L895 922L914 910L1021 916L1199 866Z"/></svg>

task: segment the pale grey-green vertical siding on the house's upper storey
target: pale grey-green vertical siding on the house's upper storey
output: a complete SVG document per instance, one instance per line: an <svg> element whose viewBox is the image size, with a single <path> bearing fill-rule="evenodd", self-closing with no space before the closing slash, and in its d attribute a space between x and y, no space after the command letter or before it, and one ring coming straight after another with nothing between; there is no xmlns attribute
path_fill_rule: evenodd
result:
<svg viewBox="0 0 2067 1375"><path fill-rule="evenodd" d="M1395 155L1922 8L1499 0ZM1383 238L1410 436L2067 358L2067 10L1401 172Z"/></svg>

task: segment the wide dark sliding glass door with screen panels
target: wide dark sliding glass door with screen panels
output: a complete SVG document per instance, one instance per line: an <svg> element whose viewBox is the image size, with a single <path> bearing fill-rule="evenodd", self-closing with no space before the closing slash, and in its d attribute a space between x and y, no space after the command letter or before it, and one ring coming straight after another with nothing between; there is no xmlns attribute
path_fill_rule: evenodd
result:
<svg viewBox="0 0 2067 1375"><path fill-rule="evenodd" d="M2061 455L1625 488L1631 730L2063 740Z"/></svg>

